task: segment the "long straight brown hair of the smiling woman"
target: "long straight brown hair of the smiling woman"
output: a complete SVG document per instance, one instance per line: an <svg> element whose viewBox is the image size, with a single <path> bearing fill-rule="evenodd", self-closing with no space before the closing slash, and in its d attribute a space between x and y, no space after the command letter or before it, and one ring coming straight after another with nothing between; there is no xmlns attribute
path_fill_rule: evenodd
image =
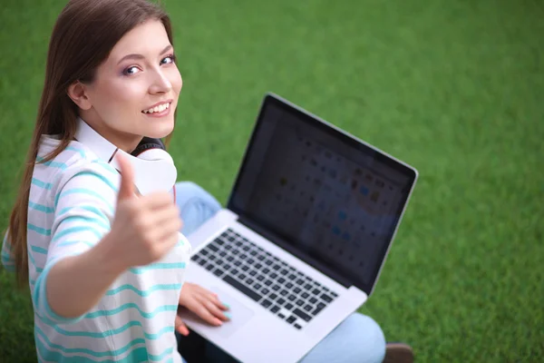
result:
<svg viewBox="0 0 544 363"><path fill-rule="evenodd" d="M44 134L61 137L59 146L41 162L52 160L68 146L75 134L78 115L77 106L68 96L68 86L76 81L91 83L96 68L106 60L121 37L151 19L162 22L170 44L173 44L169 16L159 5L147 0L70 0L57 18L49 43L44 90L23 181L9 221L8 240L19 286L28 281L28 198L40 139Z"/></svg>

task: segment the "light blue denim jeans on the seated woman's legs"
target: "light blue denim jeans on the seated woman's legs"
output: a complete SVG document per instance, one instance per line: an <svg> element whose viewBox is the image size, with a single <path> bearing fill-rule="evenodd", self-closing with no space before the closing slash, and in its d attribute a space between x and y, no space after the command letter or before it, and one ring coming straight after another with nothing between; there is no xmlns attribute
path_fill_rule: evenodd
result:
<svg viewBox="0 0 544 363"><path fill-rule="evenodd" d="M176 183L176 203L184 223L181 232L186 236L221 208L219 201L193 182ZM188 337L176 335L180 354L188 363L237 361L194 331ZM310 350L301 362L374 363L382 362L384 355L382 329L374 319L353 313Z"/></svg>

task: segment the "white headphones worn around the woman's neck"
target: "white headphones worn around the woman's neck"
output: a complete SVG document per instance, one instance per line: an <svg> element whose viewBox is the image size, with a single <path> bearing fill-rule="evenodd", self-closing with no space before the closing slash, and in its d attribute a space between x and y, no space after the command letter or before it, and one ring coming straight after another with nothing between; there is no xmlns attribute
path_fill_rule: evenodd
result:
<svg viewBox="0 0 544 363"><path fill-rule="evenodd" d="M155 139L148 139L148 143L139 145L143 151L133 156L106 140L81 117L77 118L75 139L91 149L103 161L112 164L117 171L120 170L117 156L122 154L128 159L134 170L134 184L141 195L152 191L171 191L174 188L178 177L176 166L170 154L163 149L162 143Z"/></svg>

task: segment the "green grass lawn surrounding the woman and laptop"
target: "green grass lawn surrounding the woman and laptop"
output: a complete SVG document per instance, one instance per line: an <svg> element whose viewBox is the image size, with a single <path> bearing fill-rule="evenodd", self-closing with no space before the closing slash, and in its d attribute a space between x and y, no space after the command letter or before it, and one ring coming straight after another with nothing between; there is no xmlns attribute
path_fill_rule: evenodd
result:
<svg viewBox="0 0 544 363"><path fill-rule="evenodd" d="M0 228L63 1L0 10ZM364 313L422 362L544 359L544 5L538 0L167 2L184 77L171 153L225 201L273 91L420 171ZM234 5L236 4L236 5ZM35 360L0 270L0 360Z"/></svg>

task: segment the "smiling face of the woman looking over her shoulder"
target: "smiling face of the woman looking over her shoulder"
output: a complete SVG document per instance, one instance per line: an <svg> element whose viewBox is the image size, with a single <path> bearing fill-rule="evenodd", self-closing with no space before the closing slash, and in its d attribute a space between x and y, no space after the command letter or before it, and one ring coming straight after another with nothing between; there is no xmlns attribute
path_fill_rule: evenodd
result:
<svg viewBox="0 0 544 363"><path fill-rule="evenodd" d="M97 132L130 152L142 136L162 138L174 128L181 75L160 21L125 34L83 84L89 107L80 114Z"/></svg>

